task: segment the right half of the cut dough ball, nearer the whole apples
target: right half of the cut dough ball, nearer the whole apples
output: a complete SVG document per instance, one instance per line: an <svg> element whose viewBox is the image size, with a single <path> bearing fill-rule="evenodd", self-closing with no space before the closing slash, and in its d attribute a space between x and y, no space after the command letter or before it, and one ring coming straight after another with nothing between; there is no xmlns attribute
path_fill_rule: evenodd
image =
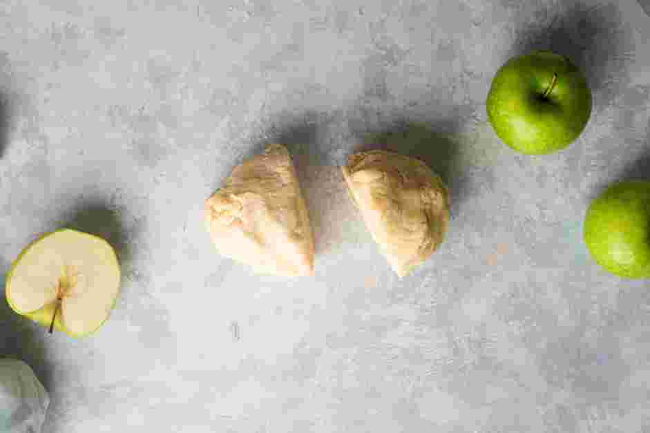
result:
<svg viewBox="0 0 650 433"><path fill-rule="evenodd" d="M343 176L372 238L400 277L427 260L443 241L449 196L420 160L385 151L356 153Z"/></svg>

